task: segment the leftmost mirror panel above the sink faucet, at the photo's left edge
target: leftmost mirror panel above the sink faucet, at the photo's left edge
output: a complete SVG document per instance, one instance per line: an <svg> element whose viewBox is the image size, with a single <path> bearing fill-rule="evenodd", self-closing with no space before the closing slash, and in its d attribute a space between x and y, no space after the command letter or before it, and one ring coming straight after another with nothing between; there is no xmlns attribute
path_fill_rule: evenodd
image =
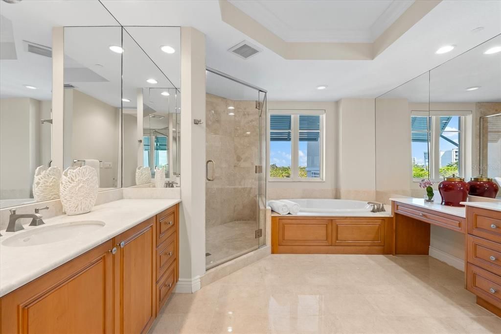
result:
<svg viewBox="0 0 501 334"><path fill-rule="evenodd" d="M20 14L0 15L0 208L59 198L33 189L51 162L52 35Z"/></svg>

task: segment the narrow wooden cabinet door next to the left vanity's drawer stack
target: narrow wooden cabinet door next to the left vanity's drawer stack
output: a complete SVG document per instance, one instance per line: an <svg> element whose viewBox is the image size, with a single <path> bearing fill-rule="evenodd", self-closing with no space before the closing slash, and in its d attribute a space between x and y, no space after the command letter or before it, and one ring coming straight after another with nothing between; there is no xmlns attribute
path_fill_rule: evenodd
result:
<svg viewBox="0 0 501 334"><path fill-rule="evenodd" d="M114 241L118 248L115 331L145 333L156 316L155 217L120 234Z"/></svg>

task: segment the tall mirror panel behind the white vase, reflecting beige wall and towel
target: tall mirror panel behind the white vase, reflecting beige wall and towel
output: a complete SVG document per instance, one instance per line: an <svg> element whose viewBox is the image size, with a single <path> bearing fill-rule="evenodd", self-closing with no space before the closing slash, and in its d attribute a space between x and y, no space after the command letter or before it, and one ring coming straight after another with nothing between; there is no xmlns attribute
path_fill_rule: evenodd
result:
<svg viewBox="0 0 501 334"><path fill-rule="evenodd" d="M121 40L120 27L65 28L64 168L92 166L100 191L121 187Z"/></svg>

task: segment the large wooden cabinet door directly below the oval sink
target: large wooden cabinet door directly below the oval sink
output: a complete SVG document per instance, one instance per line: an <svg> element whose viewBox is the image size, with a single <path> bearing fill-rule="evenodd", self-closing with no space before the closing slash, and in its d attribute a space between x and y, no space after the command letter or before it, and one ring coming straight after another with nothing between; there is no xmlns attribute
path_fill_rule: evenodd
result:
<svg viewBox="0 0 501 334"><path fill-rule="evenodd" d="M110 241L1 299L2 333L112 333Z"/></svg>

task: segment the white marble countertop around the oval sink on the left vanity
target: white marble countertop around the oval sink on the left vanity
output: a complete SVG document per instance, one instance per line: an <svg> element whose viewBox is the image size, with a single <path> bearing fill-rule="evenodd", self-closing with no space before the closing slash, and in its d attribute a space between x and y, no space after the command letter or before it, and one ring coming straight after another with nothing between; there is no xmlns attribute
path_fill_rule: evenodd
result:
<svg viewBox="0 0 501 334"><path fill-rule="evenodd" d="M18 232L1 231L0 237L0 297L42 276L120 233L153 217L181 200L119 200L95 206L91 212L77 216L61 215L48 218L43 226L25 226ZM78 238L45 245L10 247L4 240L44 226L83 220L99 220L106 225ZM29 222L27 223L29 224Z"/></svg>

